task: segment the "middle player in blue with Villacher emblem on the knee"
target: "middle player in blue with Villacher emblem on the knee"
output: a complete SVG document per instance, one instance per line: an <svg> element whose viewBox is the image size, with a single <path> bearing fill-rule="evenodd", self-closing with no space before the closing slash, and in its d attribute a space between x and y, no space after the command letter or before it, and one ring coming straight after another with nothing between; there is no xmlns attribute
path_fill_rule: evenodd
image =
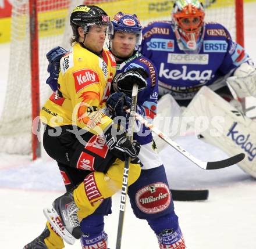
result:
<svg viewBox="0 0 256 249"><path fill-rule="evenodd" d="M131 89L133 84L137 83L137 112L148 120L153 120L157 113L158 76L154 64L135 50L141 42L140 21L136 15L119 12L112 23L114 34L110 39L109 48L115 56L118 70L112 83L113 93L107 100L107 106L113 116L129 118L123 107L130 106ZM184 249L186 246L174 211L172 194L152 134L137 123L134 139L141 145L139 159L142 170L140 178L128 189L133 212L137 218L147 220L157 236L159 248ZM107 248L108 236L104 232L103 214L111 214L110 204L111 202L108 202L106 207L104 203L104 208L99 206L101 211L81 221L83 248ZM51 236L53 235L44 231L25 248L33 249L37 246L36 248L46 249L45 239L48 241L56 239Z"/></svg>

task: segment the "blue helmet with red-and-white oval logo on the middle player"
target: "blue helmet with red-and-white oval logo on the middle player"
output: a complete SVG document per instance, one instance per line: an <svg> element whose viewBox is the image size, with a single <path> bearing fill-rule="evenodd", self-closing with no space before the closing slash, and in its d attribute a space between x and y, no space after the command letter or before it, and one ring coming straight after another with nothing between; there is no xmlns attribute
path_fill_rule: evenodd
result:
<svg viewBox="0 0 256 249"><path fill-rule="evenodd" d="M133 14L125 14L123 12L118 12L113 20L113 35L115 32L131 33L136 34L136 46L141 44L142 40L142 26L138 17ZM113 38L113 36L111 37Z"/></svg>

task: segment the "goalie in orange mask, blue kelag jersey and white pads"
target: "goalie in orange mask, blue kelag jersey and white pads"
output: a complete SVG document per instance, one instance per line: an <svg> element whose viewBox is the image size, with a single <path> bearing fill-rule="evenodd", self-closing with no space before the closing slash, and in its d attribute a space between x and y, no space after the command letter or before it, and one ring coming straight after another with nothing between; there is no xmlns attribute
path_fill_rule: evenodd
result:
<svg viewBox="0 0 256 249"><path fill-rule="evenodd" d="M158 102L161 115L155 124L175 137L183 132L177 127L183 126L170 118L165 124L161 116L177 116L179 121L207 117L208 127L197 131L205 142L230 156L245 153L247 157L238 165L256 177L255 122L245 117L239 102L247 96L256 97L256 70L229 31L222 24L205 23L204 18L200 1L179 0L170 21L154 21L143 29L140 52L157 67L162 96ZM182 111L180 106L187 108ZM223 119L214 124L217 116ZM197 129L194 121L189 125ZM159 149L165 146L161 139L156 143Z"/></svg>

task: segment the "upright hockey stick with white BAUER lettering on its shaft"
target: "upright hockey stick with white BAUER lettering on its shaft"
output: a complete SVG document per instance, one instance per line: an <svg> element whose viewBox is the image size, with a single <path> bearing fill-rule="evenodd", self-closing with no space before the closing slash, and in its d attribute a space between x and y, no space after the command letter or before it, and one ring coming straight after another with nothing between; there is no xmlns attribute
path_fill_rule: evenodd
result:
<svg viewBox="0 0 256 249"><path fill-rule="evenodd" d="M133 131L134 131L135 114L136 114L136 106L137 106L137 95L138 95L138 85L134 84L133 92L131 93L131 109L130 109L129 125L127 129L128 139L131 142L133 140ZM125 168L123 169L123 186L122 186L121 201L120 201L118 235L116 237L116 249L121 248L123 221L125 218L126 197L127 197L127 190L128 190L129 167L130 167L130 157L126 157Z"/></svg>

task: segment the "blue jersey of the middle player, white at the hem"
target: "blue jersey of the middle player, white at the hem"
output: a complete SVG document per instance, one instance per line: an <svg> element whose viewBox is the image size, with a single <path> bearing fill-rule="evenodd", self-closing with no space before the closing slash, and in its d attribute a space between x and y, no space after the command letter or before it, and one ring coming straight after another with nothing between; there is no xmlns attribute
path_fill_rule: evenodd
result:
<svg viewBox="0 0 256 249"><path fill-rule="evenodd" d="M157 115L157 101L158 101L158 73L151 60L142 56L141 53L135 53L125 62L117 62L116 75L123 73L131 68L143 67L149 77L147 78L147 87L138 92L137 96L137 110L136 112L143 116L148 121L152 122ZM144 165L143 169L159 167L162 161L158 156L158 151L152 140L152 133L150 129L136 122L136 132L134 132L133 139L140 142L141 150L139 158Z"/></svg>

